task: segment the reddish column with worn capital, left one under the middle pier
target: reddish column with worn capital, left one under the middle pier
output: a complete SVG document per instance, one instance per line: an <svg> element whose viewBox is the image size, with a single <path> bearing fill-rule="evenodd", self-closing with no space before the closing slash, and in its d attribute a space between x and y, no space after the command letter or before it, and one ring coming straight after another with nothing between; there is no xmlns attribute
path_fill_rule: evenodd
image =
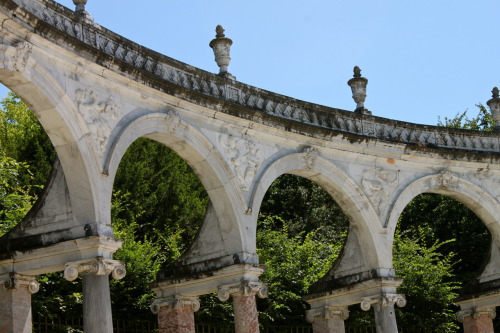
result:
<svg viewBox="0 0 500 333"><path fill-rule="evenodd" d="M195 333L194 313L199 309L198 297L177 295L151 304L151 312L158 315L159 333Z"/></svg>

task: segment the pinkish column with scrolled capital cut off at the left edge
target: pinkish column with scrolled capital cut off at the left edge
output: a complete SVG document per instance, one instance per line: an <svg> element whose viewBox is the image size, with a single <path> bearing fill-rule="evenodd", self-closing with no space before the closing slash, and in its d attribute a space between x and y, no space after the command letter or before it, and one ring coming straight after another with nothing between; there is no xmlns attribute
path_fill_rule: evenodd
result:
<svg viewBox="0 0 500 333"><path fill-rule="evenodd" d="M40 288L32 276L11 273L0 277L0 332L31 333L31 294Z"/></svg>

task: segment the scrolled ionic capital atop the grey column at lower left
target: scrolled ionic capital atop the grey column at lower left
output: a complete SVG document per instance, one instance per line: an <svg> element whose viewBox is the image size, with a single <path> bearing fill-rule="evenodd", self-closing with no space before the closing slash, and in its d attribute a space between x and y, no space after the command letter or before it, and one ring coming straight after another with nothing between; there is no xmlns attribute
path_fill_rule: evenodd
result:
<svg viewBox="0 0 500 333"><path fill-rule="evenodd" d="M127 270L121 261L112 259L103 259L97 257L95 259L81 260L66 263L64 265L64 278L68 281L76 280L79 275L94 274L113 276L113 279L122 279Z"/></svg>

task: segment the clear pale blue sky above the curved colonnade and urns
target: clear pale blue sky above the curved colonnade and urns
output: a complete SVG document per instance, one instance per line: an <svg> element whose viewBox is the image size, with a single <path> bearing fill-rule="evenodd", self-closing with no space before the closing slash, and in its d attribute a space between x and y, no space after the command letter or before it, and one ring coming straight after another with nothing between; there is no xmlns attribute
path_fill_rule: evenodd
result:
<svg viewBox="0 0 500 333"><path fill-rule="evenodd" d="M74 8L72 0L60 0ZM368 78L374 115L422 124L491 98L500 85L498 0L88 0L94 20L139 44L218 72L221 24L238 81L353 110L347 80Z"/></svg>

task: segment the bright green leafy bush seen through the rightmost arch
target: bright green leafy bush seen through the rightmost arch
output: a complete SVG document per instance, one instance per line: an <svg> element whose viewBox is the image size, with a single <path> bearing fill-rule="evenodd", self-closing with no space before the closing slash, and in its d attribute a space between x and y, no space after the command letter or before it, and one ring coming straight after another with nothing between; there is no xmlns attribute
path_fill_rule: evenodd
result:
<svg viewBox="0 0 500 333"><path fill-rule="evenodd" d="M428 332L455 332L453 300L458 296L460 283L453 281L455 253L441 254L443 246L454 243L434 241L430 246L424 239L427 230L421 229L417 238L396 233L394 267L403 278L399 292L406 295L407 305L397 309L403 327L422 327Z"/></svg>

